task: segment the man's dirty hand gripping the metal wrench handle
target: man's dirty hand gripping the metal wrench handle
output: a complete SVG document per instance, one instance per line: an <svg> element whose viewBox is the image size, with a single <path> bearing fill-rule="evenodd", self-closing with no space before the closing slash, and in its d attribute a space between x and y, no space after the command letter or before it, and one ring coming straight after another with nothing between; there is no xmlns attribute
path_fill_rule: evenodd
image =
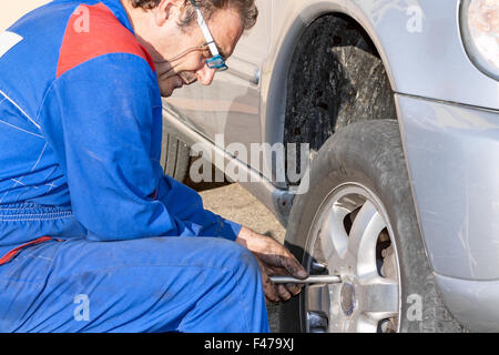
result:
<svg viewBox="0 0 499 355"><path fill-rule="evenodd" d="M253 232L243 226L236 243L246 246L259 264L265 297L274 303L287 301L297 295L303 284L276 285L269 276L293 276L299 280L308 277L308 273L296 257L282 244L269 236Z"/></svg>

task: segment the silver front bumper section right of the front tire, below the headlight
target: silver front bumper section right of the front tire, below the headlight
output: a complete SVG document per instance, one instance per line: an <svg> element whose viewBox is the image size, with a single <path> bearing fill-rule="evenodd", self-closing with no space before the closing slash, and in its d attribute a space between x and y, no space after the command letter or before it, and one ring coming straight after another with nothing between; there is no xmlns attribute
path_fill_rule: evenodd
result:
<svg viewBox="0 0 499 355"><path fill-rule="evenodd" d="M405 95L397 106L431 266L499 278L499 112Z"/></svg>

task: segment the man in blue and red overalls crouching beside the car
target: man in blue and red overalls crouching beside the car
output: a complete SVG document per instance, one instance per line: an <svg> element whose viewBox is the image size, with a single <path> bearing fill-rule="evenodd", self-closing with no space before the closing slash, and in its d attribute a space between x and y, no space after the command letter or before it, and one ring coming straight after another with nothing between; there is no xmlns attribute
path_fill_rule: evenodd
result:
<svg viewBox="0 0 499 355"><path fill-rule="evenodd" d="M210 84L256 13L58 0L1 34L0 331L268 331L264 294L301 290L268 275L307 273L159 164L160 92Z"/></svg>

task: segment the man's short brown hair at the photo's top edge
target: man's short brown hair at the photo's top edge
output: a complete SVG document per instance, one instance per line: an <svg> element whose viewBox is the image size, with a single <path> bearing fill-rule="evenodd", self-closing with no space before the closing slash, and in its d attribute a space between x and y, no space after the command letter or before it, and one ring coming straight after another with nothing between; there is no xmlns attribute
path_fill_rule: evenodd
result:
<svg viewBox="0 0 499 355"><path fill-rule="evenodd" d="M146 10L154 9L161 0L131 0L134 8L143 8ZM196 19L197 14L195 6L201 10L203 17L210 20L213 13L221 9L234 9L241 16L244 29L249 30L256 23L258 17L258 9L255 0L186 0L186 9L179 26L183 28L190 27Z"/></svg>

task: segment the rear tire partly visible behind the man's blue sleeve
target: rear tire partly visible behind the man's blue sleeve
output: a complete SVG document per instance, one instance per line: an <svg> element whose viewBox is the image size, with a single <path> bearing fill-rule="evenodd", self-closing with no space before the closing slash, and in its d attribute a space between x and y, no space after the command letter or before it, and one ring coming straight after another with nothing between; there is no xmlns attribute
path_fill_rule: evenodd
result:
<svg viewBox="0 0 499 355"><path fill-rule="evenodd" d="M184 183L191 164L191 148L170 126L164 134L161 165L166 175Z"/></svg>

